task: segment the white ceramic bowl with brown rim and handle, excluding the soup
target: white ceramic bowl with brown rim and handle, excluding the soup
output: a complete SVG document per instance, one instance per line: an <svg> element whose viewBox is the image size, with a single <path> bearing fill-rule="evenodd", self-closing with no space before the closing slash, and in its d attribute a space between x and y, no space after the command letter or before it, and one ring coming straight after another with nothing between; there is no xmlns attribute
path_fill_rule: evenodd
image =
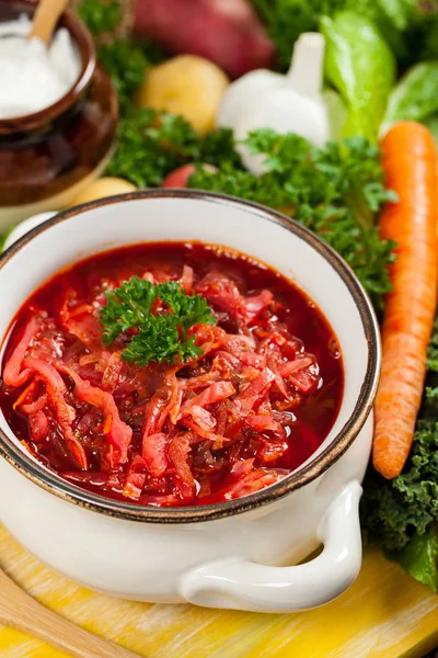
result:
<svg viewBox="0 0 438 658"><path fill-rule="evenodd" d="M0 259L0 339L23 302L61 268L123 245L203 240L255 257L314 299L338 337L341 410L312 457L285 479L230 502L139 508L89 494L24 453L0 418L0 521L46 564L130 599L293 611L342 593L361 563L360 481L379 379L379 329L344 261L313 234L262 206L158 190L67 211ZM320 543L322 553L297 565Z"/></svg>

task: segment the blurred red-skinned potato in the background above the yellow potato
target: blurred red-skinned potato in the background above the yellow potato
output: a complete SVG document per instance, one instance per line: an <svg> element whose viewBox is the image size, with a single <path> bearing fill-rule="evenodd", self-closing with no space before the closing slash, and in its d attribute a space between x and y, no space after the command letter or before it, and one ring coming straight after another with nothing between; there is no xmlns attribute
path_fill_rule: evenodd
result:
<svg viewBox="0 0 438 658"><path fill-rule="evenodd" d="M274 45L247 0L136 0L135 8L138 34L206 57L231 78L273 64Z"/></svg>

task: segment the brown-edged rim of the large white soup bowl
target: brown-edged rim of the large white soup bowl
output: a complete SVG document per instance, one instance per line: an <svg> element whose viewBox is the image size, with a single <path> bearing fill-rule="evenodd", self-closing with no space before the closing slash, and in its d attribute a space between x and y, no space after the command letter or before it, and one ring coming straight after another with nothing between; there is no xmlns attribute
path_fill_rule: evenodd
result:
<svg viewBox="0 0 438 658"><path fill-rule="evenodd" d="M58 498L110 517L148 523L194 523L223 519L246 512L269 502L274 502L275 500L283 498L288 494L304 487L325 473L325 470L327 470L335 462L337 462L337 460L339 460L346 450L351 445L371 412L377 394L381 366L379 324L371 302L353 270L342 259L342 257L334 251L332 247L324 242L319 236L314 235L310 229L301 226L290 217L287 217L286 215L267 208L261 204L244 201L234 196L204 192L200 190L155 189L136 191L127 194L100 198L97 201L91 201L79 206L74 206L71 209L64 211L51 219L46 220L44 224L25 234L7 251L4 251L4 253L0 256L0 271L23 247L25 247L25 245L27 245L27 242L44 234L53 226L74 219L74 217L81 215L83 212L96 207L149 198L204 200L209 203L217 203L223 206L243 206L246 211L250 211L251 213L262 217L264 220L285 227L287 230L304 240L328 262L328 264L336 271L338 276L341 276L347 286L348 292L358 308L368 343L367 371L351 416L341 428L336 436L333 438L330 445L326 446L314 460L311 460L304 467L286 476L284 479L269 485L264 489L261 489L260 491L250 494L249 496L207 506L182 508L140 507L134 503L117 501L89 492L68 483L67 480L64 480L57 474L51 474L50 472L46 470L24 451L20 450L19 446L15 445L1 429L0 456L4 457L27 479L32 480L43 489L46 489L50 494L54 494ZM1 343L7 339L7 336L8 333L4 337L1 337Z"/></svg>

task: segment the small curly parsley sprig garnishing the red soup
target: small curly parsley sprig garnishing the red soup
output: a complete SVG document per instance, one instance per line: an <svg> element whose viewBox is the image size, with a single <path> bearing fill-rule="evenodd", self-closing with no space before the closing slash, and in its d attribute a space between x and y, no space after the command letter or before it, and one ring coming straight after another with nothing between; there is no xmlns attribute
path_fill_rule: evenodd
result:
<svg viewBox="0 0 438 658"><path fill-rule="evenodd" d="M134 276L107 293L106 299L100 314L103 342L112 344L122 334L132 333L122 359L141 366L150 361L173 363L178 359L185 363L200 356L203 351L195 345L195 336L187 336L188 330L216 322L206 299L186 295L175 281L153 285ZM158 299L168 310L155 315L152 307Z"/></svg>

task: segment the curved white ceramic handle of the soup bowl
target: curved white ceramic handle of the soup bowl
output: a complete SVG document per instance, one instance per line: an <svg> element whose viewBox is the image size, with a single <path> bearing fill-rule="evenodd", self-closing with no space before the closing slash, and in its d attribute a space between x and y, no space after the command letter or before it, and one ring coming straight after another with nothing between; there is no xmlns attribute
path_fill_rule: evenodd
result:
<svg viewBox="0 0 438 658"><path fill-rule="evenodd" d="M359 500L362 488L350 481L331 503L319 529L324 548L295 567L268 567L228 558L195 567L181 580L191 603L254 612L295 612L322 605L342 594L361 565Z"/></svg>

